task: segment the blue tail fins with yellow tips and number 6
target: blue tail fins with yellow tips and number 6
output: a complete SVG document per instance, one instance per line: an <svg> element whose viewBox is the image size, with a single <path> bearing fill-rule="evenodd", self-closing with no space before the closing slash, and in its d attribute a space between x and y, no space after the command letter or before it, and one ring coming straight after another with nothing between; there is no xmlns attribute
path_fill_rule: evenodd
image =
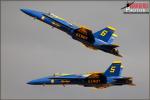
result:
<svg viewBox="0 0 150 100"><path fill-rule="evenodd" d="M94 37L98 38L104 42L112 44L114 41L115 37L117 37L117 34L114 34L114 31L116 29L113 28L112 26L107 26L106 28L97 31L94 33Z"/></svg>

